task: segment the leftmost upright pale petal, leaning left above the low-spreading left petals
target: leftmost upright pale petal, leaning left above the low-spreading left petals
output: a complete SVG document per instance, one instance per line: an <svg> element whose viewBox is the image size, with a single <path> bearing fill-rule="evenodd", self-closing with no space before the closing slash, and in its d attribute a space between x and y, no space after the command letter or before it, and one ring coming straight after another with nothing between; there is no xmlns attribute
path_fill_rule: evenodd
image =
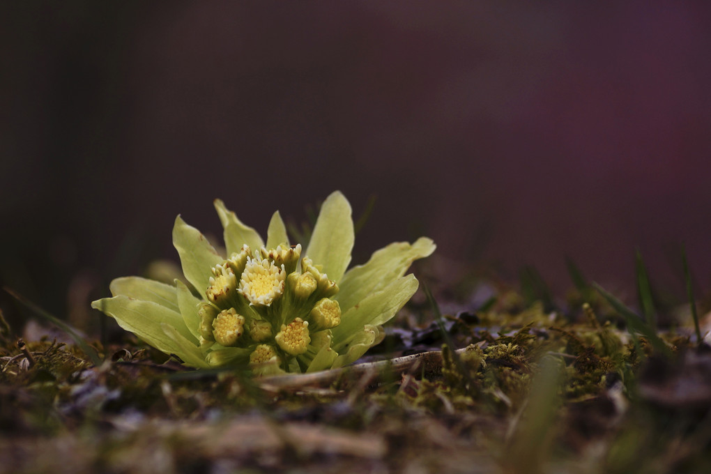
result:
<svg viewBox="0 0 711 474"><path fill-rule="evenodd" d="M201 294L210 285L213 266L223 262L208 239L178 215L173 226L173 245L178 251L183 274Z"/></svg>

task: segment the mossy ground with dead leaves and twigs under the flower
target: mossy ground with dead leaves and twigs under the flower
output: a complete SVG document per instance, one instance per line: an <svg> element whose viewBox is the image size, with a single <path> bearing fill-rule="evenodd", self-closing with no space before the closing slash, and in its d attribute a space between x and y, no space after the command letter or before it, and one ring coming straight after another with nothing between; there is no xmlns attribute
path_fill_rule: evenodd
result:
<svg viewBox="0 0 711 474"><path fill-rule="evenodd" d="M127 334L89 339L95 365L4 328L0 473L711 472L711 351L678 318L667 353L590 289L491 287L434 291L444 315L419 295L316 379L188 371Z"/></svg>

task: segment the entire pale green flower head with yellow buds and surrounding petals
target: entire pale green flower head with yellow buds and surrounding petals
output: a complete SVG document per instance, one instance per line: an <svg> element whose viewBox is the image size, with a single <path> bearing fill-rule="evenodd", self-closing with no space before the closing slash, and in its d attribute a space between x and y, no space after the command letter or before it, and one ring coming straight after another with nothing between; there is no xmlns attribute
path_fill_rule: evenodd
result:
<svg viewBox="0 0 711 474"><path fill-rule="evenodd" d="M380 327L417 290L405 271L432 254L431 239L395 242L346 271L353 249L348 200L321 206L306 251L290 245L279 212L266 244L215 200L227 255L178 215L173 244L190 286L127 276L92 303L119 325L191 367L251 367L257 374L342 367L383 339ZM303 254L303 255L302 255Z"/></svg>

